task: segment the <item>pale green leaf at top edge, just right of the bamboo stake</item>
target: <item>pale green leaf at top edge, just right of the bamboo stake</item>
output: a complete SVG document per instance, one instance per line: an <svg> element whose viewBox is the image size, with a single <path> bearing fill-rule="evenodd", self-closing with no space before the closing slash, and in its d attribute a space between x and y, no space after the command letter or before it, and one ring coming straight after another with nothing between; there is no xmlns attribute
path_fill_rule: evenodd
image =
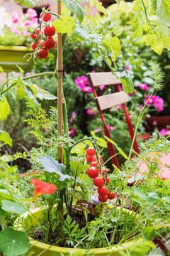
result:
<svg viewBox="0 0 170 256"><path fill-rule="evenodd" d="M72 11L72 14L77 13L77 18L79 18L79 22L81 23L84 19L83 10L81 6L75 0L62 0L67 9Z"/></svg>

